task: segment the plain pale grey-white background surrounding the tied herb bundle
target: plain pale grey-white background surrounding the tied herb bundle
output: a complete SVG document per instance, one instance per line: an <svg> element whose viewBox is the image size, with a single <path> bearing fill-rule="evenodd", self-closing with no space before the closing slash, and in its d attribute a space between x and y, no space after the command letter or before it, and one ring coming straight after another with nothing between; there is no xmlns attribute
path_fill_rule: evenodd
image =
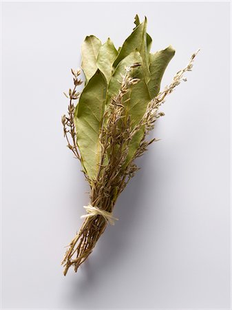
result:
<svg viewBox="0 0 232 310"><path fill-rule="evenodd" d="M2 4L3 309L228 309L229 2ZM201 49L156 123L162 140L120 196L94 253L63 276L87 184L65 147L62 92L88 34L116 47L148 18L172 44L162 86Z"/></svg>

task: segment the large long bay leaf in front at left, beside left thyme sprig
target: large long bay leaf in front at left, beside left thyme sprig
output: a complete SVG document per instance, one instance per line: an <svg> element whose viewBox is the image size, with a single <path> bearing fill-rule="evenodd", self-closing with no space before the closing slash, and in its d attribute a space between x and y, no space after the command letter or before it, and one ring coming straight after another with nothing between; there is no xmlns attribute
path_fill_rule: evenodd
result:
<svg viewBox="0 0 232 310"><path fill-rule="evenodd" d="M107 81L97 70L85 86L76 107L76 140L89 178L94 179L101 159L99 134L105 109Z"/></svg>

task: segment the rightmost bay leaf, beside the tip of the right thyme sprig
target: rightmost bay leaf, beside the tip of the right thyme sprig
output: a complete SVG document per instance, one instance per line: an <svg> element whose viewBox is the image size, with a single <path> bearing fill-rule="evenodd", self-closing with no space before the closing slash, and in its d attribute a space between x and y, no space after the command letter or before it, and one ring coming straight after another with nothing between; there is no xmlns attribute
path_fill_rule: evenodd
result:
<svg viewBox="0 0 232 310"><path fill-rule="evenodd" d="M162 76L174 54L175 50L173 50L171 45L165 50L160 50L155 54L150 54L151 64L149 69L151 73L151 79L148 83L148 88L151 98L154 98L158 95Z"/></svg>

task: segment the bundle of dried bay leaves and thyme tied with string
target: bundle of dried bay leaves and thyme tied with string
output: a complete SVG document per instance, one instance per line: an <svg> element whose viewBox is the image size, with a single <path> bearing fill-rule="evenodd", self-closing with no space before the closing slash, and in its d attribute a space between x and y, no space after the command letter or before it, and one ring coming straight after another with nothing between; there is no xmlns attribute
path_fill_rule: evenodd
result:
<svg viewBox="0 0 232 310"><path fill-rule="evenodd" d="M81 70L72 70L74 87L65 94L69 99L68 114L62 116L67 147L81 162L89 183L90 201L81 229L63 258L64 274L78 267L94 249L107 223L114 225L112 215L116 200L138 170L135 160L156 141L148 134L168 94L180 84L184 73L191 71L193 59L174 76L171 84L160 92L162 75L175 54L171 46L151 53L152 39L147 34L147 19L140 23L138 15L131 35L121 48L110 39L102 44L93 35L82 45L82 69L85 87L79 78ZM74 101L78 103L74 105Z"/></svg>

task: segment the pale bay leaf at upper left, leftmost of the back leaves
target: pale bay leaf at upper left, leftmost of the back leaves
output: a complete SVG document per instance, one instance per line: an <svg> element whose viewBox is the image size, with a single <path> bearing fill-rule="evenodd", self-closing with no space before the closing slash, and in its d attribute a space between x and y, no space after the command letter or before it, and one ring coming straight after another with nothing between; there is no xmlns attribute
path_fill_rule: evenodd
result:
<svg viewBox="0 0 232 310"><path fill-rule="evenodd" d="M81 46L81 67L83 68L83 71L85 73L85 84L87 84L89 79L92 78L92 76L98 69L96 65L96 59L98 57L100 47L101 41L92 35L86 37L85 41Z"/></svg>

